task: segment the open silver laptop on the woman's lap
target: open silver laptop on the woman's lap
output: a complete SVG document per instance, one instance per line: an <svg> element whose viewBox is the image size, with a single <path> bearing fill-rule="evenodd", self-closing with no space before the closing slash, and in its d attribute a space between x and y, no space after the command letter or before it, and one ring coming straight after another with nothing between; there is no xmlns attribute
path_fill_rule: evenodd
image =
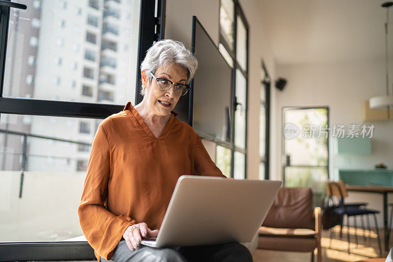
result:
<svg viewBox="0 0 393 262"><path fill-rule="evenodd" d="M281 181L181 176L151 247L251 242L281 187Z"/></svg>

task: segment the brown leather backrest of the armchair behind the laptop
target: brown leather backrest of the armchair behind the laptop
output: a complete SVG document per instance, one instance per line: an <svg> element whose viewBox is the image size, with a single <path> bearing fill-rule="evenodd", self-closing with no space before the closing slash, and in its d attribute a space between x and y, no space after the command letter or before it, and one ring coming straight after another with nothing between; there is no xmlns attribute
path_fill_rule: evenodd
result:
<svg viewBox="0 0 393 262"><path fill-rule="evenodd" d="M262 226L315 230L312 191L308 187L281 187Z"/></svg>

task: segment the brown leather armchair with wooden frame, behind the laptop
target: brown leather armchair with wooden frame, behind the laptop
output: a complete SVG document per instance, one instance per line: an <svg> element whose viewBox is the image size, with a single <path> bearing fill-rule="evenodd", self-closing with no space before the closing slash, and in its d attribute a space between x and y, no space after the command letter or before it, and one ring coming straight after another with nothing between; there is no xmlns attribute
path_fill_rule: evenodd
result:
<svg viewBox="0 0 393 262"><path fill-rule="evenodd" d="M321 262L321 209L312 210L312 191L307 187L281 187L262 226L259 229L258 248L311 252L317 248Z"/></svg>

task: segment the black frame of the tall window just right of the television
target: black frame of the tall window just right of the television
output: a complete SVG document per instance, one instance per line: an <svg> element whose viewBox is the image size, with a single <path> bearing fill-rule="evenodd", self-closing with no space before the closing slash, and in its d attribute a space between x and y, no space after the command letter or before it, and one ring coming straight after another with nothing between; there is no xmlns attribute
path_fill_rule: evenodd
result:
<svg viewBox="0 0 393 262"><path fill-rule="evenodd" d="M249 42L250 42L250 26L247 22L246 16L243 12L243 9L240 5L239 0L232 0L233 4L234 4L234 8L233 8L233 17L234 17L234 21L233 21L233 47L230 48L229 44L227 43L225 36L221 33L221 28L220 28L220 9L221 9L221 1L220 2L220 6L219 6L219 44L222 44L225 48L225 50L228 52L228 54L230 55L230 57L232 58L233 61L233 67L232 67L232 86L231 86L231 100L232 100L232 115L233 115L233 121L232 121L232 140L231 140L231 145L227 146L225 144L217 144L220 146L223 146L227 149L231 150L231 167L230 167L230 177L233 178L234 177L234 163L235 163L235 152L240 152L242 154L244 154L245 158L244 158L244 178L247 179L247 133L248 133L248 128L247 128L247 118L248 118L248 94L249 94L249 64L250 64L250 55L249 55ZM247 56L247 63L246 63L246 70L243 70L243 68L241 67L241 65L238 63L237 61L237 57L236 57L236 45L237 45L237 17L240 17L240 19L243 22L243 25L246 28L247 31L247 42L246 42L246 56ZM245 133L246 133L246 137L245 137L245 147L244 148L239 148L235 145L235 111L236 111L236 105L237 105L237 101L236 101L236 70L239 70L240 73L245 77L246 79L246 125L245 125ZM217 158L216 158L217 160Z"/></svg>

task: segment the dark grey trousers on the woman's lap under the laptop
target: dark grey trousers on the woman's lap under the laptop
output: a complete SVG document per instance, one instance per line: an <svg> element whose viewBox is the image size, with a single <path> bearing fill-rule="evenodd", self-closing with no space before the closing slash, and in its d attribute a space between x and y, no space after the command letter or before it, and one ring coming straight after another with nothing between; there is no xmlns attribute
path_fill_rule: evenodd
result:
<svg viewBox="0 0 393 262"><path fill-rule="evenodd" d="M154 248L140 245L131 251L121 240L113 253L115 262L252 262L250 251L242 244ZM101 262L106 262L101 258Z"/></svg>

